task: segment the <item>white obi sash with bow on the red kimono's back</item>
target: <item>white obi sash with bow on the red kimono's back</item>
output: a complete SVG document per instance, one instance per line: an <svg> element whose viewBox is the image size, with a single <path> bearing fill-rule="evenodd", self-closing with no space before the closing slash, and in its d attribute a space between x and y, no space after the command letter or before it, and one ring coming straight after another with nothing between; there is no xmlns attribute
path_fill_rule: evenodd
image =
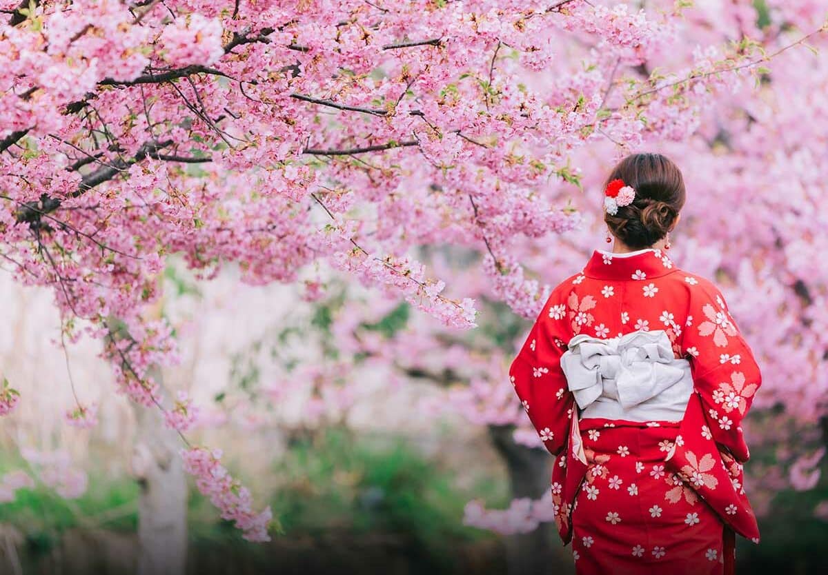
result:
<svg viewBox="0 0 828 575"><path fill-rule="evenodd" d="M663 330L570 339L561 369L580 418L680 421L693 392L690 362L676 359Z"/></svg>

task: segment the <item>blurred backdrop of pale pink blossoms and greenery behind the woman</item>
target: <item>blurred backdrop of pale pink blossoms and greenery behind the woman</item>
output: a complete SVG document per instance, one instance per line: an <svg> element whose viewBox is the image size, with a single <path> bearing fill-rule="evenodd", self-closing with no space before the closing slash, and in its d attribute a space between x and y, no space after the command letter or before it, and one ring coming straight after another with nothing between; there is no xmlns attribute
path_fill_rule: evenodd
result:
<svg viewBox="0 0 828 575"><path fill-rule="evenodd" d="M763 539L739 539L739 569L828 568L828 2L624 5L652 22L681 8L671 39L630 60L623 38L602 43L580 22L570 36L566 26L551 33L551 63L521 73L534 89L551 86L550 104L607 86L589 112L604 110L606 132L567 142L566 169L541 186L567 206L566 225L521 235L489 213L493 247L465 223L400 242L449 280L450 295L476 299L474 329L447 328L416 301L319 261L299 281L258 286L233 262L209 280L185 257L165 262L162 295L144 314L169 322L178 357L156 376L167 400L191 398L189 440L221 448L257 505L271 506L270 542L244 540L200 495L176 431L115 392L100 339L61 340L55 290L21 285L3 265L0 376L22 399L0 420L0 573L153 573L146 561L159 549L200 575L574 573L551 523L553 461L507 368L545 286L606 247L600 187L633 150L661 151L684 171L689 199L671 256L722 286L763 367L746 429L746 489ZM752 72L705 72L731 54L746 59L731 67ZM515 60L500 57L503 68ZM620 113L623 78L657 79L659 69L703 81L638 117ZM402 191L426 189L420 176L412 168ZM435 208L427 190L412 204ZM394 230L412 209L396 201L385 206ZM502 273L492 248L522 266ZM89 429L67 422L78 398L95 406Z"/></svg>

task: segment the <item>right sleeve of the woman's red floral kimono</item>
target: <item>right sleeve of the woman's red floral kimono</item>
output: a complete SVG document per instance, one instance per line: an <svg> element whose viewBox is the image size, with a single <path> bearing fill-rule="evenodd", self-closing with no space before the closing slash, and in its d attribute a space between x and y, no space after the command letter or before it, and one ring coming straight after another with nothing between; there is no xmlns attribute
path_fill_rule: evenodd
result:
<svg viewBox="0 0 828 575"><path fill-rule="evenodd" d="M683 352L691 361L710 434L736 461L746 462L750 453L742 419L762 384L762 374L720 290L705 280L692 287Z"/></svg>

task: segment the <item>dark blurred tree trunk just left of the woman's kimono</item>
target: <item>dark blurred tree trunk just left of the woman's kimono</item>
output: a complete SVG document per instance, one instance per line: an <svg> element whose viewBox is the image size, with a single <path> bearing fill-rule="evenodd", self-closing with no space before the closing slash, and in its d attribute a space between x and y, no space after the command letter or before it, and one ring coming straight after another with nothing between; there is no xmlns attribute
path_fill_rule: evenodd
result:
<svg viewBox="0 0 828 575"><path fill-rule="evenodd" d="M511 425L489 425L494 447L506 460L512 495L515 498L541 498L550 488L552 458L542 449L514 443ZM563 573L563 546L555 523L542 523L532 533L515 534L506 540L509 575Z"/></svg>

